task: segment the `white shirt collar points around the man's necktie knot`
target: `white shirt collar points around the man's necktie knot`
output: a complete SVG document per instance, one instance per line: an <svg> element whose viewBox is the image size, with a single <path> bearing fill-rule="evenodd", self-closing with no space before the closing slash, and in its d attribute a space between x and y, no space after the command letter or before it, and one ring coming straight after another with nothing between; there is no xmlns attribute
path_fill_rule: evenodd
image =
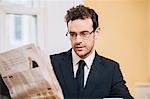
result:
<svg viewBox="0 0 150 99"><path fill-rule="evenodd" d="M87 58L84 59L87 68L91 68L91 65L92 65L92 63L93 63L94 57L95 57L95 50L93 50L93 52L91 53L90 56L88 56ZM72 59L73 59L73 66L75 66L76 64L78 64L78 62L79 62L80 60L83 60L83 59L81 59L81 58L75 53L75 51L74 51L73 49L72 49Z"/></svg>

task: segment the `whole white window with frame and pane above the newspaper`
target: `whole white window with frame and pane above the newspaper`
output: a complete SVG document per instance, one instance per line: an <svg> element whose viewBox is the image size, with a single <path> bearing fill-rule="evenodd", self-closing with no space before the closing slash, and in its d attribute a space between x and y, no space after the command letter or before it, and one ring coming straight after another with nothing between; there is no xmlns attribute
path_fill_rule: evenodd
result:
<svg viewBox="0 0 150 99"><path fill-rule="evenodd" d="M0 0L0 51L27 43L41 44L41 13L39 0Z"/></svg>

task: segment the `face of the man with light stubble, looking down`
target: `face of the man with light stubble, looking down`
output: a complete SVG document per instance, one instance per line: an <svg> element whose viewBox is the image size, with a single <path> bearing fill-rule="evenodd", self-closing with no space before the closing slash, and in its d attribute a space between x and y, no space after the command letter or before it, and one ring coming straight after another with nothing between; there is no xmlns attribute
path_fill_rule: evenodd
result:
<svg viewBox="0 0 150 99"><path fill-rule="evenodd" d="M70 38L72 48L74 49L75 53L80 58L88 57L94 47L95 43L95 33L93 31L93 23L91 18L87 19L77 19L73 21L69 21L68 23L68 32L77 34L76 39ZM89 37L82 38L80 34L84 32L92 32Z"/></svg>

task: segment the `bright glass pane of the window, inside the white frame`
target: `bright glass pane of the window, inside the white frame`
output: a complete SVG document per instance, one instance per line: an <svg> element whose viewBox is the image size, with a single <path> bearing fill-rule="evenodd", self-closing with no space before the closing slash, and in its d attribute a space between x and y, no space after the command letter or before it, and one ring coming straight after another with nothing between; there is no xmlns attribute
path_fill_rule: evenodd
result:
<svg viewBox="0 0 150 99"><path fill-rule="evenodd" d="M6 30L12 47L30 42L37 43L36 15L6 14L6 20Z"/></svg>

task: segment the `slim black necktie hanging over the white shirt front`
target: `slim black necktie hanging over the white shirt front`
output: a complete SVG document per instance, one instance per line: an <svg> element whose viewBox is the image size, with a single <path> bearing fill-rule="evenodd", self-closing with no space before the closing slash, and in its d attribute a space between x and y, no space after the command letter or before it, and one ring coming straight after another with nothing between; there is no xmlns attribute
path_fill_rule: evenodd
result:
<svg viewBox="0 0 150 99"><path fill-rule="evenodd" d="M79 94L83 91L84 88L84 66L86 65L86 63L84 62L84 60L80 60L79 61L79 67L76 73L76 79L77 79L77 87L78 87L78 91Z"/></svg>

